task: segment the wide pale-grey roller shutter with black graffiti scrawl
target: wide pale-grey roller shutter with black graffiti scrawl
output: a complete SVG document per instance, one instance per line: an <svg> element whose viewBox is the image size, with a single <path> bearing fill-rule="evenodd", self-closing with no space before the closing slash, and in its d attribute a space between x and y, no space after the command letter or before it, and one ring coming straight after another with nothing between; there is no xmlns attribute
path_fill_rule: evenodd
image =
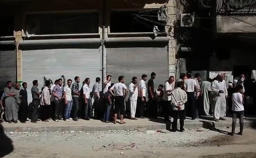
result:
<svg viewBox="0 0 256 158"><path fill-rule="evenodd" d="M79 88L86 77L91 79L91 90L96 77L101 77L101 51L95 49L48 49L26 50L22 52L23 82L28 83L28 101L32 101L32 81L38 80L38 89L44 85L44 78L53 82L65 78L74 83L74 77L80 77Z"/></svg>

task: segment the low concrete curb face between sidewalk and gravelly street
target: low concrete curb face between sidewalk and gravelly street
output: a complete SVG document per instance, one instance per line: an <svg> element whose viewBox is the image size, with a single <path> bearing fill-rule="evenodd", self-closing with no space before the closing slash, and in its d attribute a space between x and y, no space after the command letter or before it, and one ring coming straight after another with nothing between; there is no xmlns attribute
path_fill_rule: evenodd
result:
<svg viewBox="0 0 256 158"><path fill-rule="evenodd" d="M253 121L244 121L244 126L249 127L252 126ZM237 127L239 127L239 122L237 122ZM157 130L157 129L170 129L170 124L125 124L125 125L68 125L68 126L42 126L42 127L29 127L29 126L14 126L14 127L4 127L5 132L44 132L44 131L108 131L108 130L129 130L129 129L143 129L143 130ZM214 122L214 121L200 121L200 122L185 122L184 128L186 129L195 129L195 128L221 128L221 127L231 127L231 122L222 121L222 122ZM179 125L178 125L179 128Z"/></svg>

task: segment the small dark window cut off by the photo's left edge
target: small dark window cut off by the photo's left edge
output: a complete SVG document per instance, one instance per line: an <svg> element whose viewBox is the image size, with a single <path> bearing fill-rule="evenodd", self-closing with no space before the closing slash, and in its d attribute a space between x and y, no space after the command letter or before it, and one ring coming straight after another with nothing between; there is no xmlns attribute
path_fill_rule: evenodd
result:
<svg viewBox="0 0 256 158"><path fill-rule="evenodd" d="M0 17L0 36L13 36L14 19L13 17Z"/></svg>

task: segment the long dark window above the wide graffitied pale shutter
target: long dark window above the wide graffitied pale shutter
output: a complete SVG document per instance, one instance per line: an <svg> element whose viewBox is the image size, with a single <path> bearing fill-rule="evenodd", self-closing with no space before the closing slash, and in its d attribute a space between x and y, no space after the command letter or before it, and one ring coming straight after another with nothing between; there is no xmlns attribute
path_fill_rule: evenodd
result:
<svg viewBox="0 0 256 158"><path fill-rule="evenodd" d="M27 16L28 34L98 33L98 13L59 13Z"/></svg>

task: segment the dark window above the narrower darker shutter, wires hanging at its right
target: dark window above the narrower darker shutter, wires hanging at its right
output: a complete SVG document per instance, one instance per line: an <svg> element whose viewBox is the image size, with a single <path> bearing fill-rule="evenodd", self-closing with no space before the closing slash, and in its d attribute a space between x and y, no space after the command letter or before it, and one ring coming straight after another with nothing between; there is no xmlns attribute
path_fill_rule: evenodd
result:
<svg viewBox="0 0 256 158"><path fill-rule="evenodd" d="M154 11L111 11L111 33L152 32L158 26L165 32L165 22L158 20L157 10Z"/></svg>

